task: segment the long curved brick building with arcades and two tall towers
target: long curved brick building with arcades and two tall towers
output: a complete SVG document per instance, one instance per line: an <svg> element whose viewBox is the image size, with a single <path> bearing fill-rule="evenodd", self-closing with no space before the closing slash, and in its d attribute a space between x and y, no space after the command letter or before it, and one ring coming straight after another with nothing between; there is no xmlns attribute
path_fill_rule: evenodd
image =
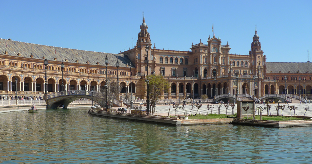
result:
<svg viewBox="0 0 312 164"><path fill-rule="evenodd" d="M171 87L160 95L161 99L197 98L205 94L211 99L220 94L260 98L265 94L286 93L310 97L311 63L266 62L259 39L255 31L247 55L231 54L229 43L222 44L216 36L208 36L207 43L201 40L192 43L188 51L161 50L151 42L145 17L134 48L119 54L0 39L0 94L10 97L17 90L19 96L43 96L45 81L48 94L62 91L62 83L65 90L99 91L106 83L107 56L107 76L121 84L123 97L129 97L132 92L135 97L145 98L143 81L152 74L163 75L170 83ZM62 62L65 64L63 79Z"/></svg>

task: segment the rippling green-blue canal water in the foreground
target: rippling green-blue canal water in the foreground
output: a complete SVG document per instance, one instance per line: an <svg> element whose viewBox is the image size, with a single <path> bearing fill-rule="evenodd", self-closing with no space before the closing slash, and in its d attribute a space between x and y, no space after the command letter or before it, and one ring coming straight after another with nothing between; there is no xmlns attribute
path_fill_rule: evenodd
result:
<svg viewBox="0 0 312 164"><path fill-rule="evenodd" d="M87 109L0 113L0 163L312 163L312 128L172 127Z"/></svg>

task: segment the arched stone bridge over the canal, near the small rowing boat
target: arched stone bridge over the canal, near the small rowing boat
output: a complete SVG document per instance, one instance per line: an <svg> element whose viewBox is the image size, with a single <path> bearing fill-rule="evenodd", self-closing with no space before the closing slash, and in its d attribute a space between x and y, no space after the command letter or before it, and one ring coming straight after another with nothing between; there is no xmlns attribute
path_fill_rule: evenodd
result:
<svg viewBox="0 0 312 164"><path fill-rule="evenodd" d="M104 100L103 99L104 96L105 94L102 92L86 91L86 90L71 90L71 91L56 92L47 95L46 109L55 109L60 104L64 104L64 106L67 108L69 103L81 98L90 100L93 99L94 102L102 106L102 103L105 105L105 102L102 102Z"/></svg>

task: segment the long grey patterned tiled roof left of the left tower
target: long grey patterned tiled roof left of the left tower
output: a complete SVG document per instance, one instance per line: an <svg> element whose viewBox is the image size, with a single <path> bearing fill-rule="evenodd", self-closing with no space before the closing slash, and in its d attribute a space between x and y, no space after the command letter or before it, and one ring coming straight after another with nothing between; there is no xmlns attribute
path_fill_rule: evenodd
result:
<svg viewBox="0 0 312 164"><path fill-rule="evenodd" d="M56 57L57 61L65 62L65 59L67 59L67 62L70 63L77 63L76 60L78 59L78 63L87 64L87 61L89 61L89 65L97 65L98 61L99 65L105 65L106 55L108 57L109 66L116 66L117 56L119 59L119 67L126 67L126 65L129 65L131 62L128 56L123 54L83 51L0 39L0 53L4 54L6 50L10 56L17 56L17 54L20 53L21 57L31 58L30 56L33 55L33 59L41 60L43 56L46 56L48 60L53 61L55 61L54 58ZM134 67L133 64L131 65Z"/></svg>

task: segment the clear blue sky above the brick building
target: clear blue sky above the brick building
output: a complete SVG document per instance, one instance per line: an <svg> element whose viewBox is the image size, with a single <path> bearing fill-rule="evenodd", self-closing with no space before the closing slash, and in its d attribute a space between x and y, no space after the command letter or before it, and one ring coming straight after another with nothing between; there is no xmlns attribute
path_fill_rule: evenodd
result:
<svg viewBox="0 0 312 164"><path fill-rule="evenodd" d="M260 36L267 62L307 62L312 1L2 1L0 38L119 53L138 38L143 12L158 49L190 50L212 34L248 54ZM310 58L312 55L310 55ZM310 59L311 61L311 59Z"/></svg>

